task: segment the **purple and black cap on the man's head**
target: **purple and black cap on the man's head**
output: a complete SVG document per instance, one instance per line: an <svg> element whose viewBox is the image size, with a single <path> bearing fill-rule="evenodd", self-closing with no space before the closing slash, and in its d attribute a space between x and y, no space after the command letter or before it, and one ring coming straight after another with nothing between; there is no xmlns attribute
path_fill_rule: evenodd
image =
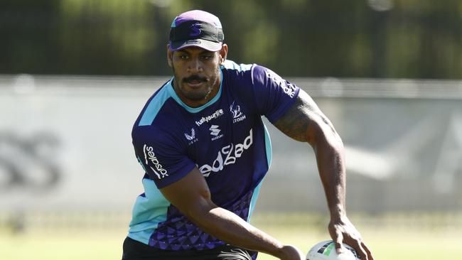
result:
<svg viewBox="0 0 462 260"><path fill-rule="evenodd" d="M221 50L225 38L220 19L206 11L193 10L173 19L170 28L170 49L195 46L205 50Z"/></svg>

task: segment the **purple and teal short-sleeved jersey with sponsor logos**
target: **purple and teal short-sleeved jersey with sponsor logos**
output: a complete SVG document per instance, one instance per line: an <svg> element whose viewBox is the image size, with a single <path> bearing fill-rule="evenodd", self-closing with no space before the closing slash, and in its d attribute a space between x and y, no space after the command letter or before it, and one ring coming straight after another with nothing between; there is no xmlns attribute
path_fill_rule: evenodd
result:
<svg viewBox="0 0 462 260"><path fill-rule="evenodd" d="M221 66L220 90L201 107L188 107L172 80L148 100L134 124L133 145L144 168L129 234L167 250L213 249L224 242L203 232L171 205L160 188L197 167L213 202L249 221L272 151L262 116L274 122L299 88L259 65Z"/></svg>

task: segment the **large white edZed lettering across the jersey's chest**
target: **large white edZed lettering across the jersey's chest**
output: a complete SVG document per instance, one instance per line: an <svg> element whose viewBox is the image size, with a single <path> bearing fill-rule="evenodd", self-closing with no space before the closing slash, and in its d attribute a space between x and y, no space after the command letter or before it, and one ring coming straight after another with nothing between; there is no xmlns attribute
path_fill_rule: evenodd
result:
<svg viewBox="0 0 462 260"><path fill-rule="evenodd" d="M223 170L225 166L236 163L237 158L240 158L242 153L252 146L253 141L252 129L250 129L249 136L247 136L242 143L230 143L222 147L217 153L217 158L211 165L204 164L200 166L200 173L202 173L204 177L208 177L210 173L217 173Z"/></svg>

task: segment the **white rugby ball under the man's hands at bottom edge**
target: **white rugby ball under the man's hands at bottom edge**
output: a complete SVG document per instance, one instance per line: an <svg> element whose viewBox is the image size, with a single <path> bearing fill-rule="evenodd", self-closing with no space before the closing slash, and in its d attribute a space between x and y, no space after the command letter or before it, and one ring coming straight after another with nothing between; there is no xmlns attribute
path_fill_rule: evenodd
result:
<svg viewBox="0 0 462 260"><path fill-rule="evenodd" d="M359 260L360 256L353 247L343 244L344 252L340 255L335 251L335 243L332 240L319 242L306 255L306 260Z"/></svg>

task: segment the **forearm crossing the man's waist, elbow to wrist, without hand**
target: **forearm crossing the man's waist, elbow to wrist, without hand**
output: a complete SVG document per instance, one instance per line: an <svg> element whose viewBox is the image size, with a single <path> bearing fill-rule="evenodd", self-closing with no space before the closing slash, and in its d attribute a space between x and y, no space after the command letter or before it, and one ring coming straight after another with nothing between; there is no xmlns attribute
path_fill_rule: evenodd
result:
<svg viewBox="0 0 462 260"><path fill-rule="evenodd" d="M284 254L281 242L221 207L210 207L188 217L204 232L224 242L279 258Z"/></svg>

